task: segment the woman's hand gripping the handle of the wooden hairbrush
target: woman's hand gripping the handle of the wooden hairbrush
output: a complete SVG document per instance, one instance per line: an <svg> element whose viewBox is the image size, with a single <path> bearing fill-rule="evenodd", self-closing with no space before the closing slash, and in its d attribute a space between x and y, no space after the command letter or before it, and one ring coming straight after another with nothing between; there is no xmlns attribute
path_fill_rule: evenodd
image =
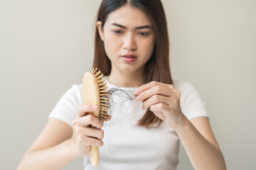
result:
<svg viewBox="0 0 256 170"><path fill-rule="evenodd" d="M93 106L96 106L96 108L93 108ZM72 122L73 137L70 142L79 156L89 154L91 145L103 146L104 132L101 130L103 120L90 115L90 112L97 111L97 109L97 105L78 106L78 115ZM107 115L107 120L110 120L110 118L111 116ZM91 128L90 125L95 128Z"/></svg>

